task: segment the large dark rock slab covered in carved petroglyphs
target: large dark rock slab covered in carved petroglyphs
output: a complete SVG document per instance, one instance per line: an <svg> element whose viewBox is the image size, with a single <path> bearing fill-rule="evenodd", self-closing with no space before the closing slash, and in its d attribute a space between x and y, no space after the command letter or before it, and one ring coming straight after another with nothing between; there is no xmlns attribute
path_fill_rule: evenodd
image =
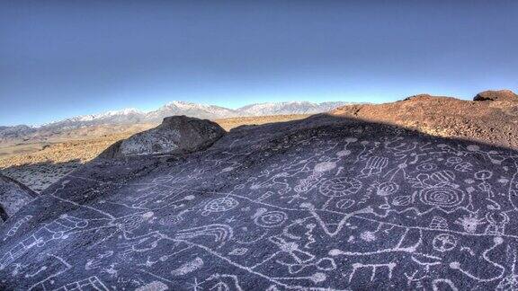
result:
<svg viewBox="0 0 518 291"><path fill-rule="evenodd" d="M517 164L331 116L97 159L0 227L0 289L512 289Z"/></svg>

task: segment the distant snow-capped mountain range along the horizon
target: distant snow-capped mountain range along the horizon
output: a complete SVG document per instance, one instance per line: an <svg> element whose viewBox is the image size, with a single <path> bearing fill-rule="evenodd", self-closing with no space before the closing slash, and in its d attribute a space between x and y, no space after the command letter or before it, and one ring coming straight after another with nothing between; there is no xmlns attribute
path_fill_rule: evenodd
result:
<svg viewBox="0 0 518 291"><path fill-rule="evenodd" d="M186 115L199 119L226 119L246 116L315 114L334 110L337 107L353 104L344 101L313 103L309 101L268 102L247 105L238 109L228 109L216 105L206 105L186 101L172 101L157 110L137 109L111 110L99 114L76 116L40 126L17 125L0 126L0 142L25 140L31 135L62 133L63 131L95 127L124 126L133 124L158 124L168 116Z"/></svg>

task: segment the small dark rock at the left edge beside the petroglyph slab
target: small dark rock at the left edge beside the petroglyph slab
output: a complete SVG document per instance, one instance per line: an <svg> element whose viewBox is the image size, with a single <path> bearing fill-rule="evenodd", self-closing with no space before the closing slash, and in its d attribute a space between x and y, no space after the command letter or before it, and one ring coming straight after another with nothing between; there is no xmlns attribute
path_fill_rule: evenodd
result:
<svg viewBox="0 0 518 291"><path fill-rule="evenodd" d="M22 183L0 174L0 224L37 196Z"/></svg>

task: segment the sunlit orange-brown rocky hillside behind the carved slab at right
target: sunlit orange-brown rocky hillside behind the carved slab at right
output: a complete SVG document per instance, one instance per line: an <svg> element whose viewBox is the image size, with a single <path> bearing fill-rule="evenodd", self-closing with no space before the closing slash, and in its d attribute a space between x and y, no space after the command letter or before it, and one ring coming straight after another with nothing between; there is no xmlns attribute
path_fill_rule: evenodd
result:
<svg viewBox="0 0 518 291"><path fill-rule="evenodd" d="M422 94L393 103L344 106L332 113L518 148L518 96L508 90L478 93L474 101Z"/></svg>

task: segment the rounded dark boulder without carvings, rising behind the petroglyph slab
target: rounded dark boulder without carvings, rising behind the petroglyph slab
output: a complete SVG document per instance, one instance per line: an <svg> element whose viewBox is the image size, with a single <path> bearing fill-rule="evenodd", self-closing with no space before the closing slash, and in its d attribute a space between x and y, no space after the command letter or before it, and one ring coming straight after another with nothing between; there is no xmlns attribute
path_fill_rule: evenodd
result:
<svg viewBox="0 0 518 291"><path fill-rule="evenodd" d="M100 157L190 153L209 147L224 135L225 130L210 120L172 116L165 118L156 128L110 146Z"/></svg>

